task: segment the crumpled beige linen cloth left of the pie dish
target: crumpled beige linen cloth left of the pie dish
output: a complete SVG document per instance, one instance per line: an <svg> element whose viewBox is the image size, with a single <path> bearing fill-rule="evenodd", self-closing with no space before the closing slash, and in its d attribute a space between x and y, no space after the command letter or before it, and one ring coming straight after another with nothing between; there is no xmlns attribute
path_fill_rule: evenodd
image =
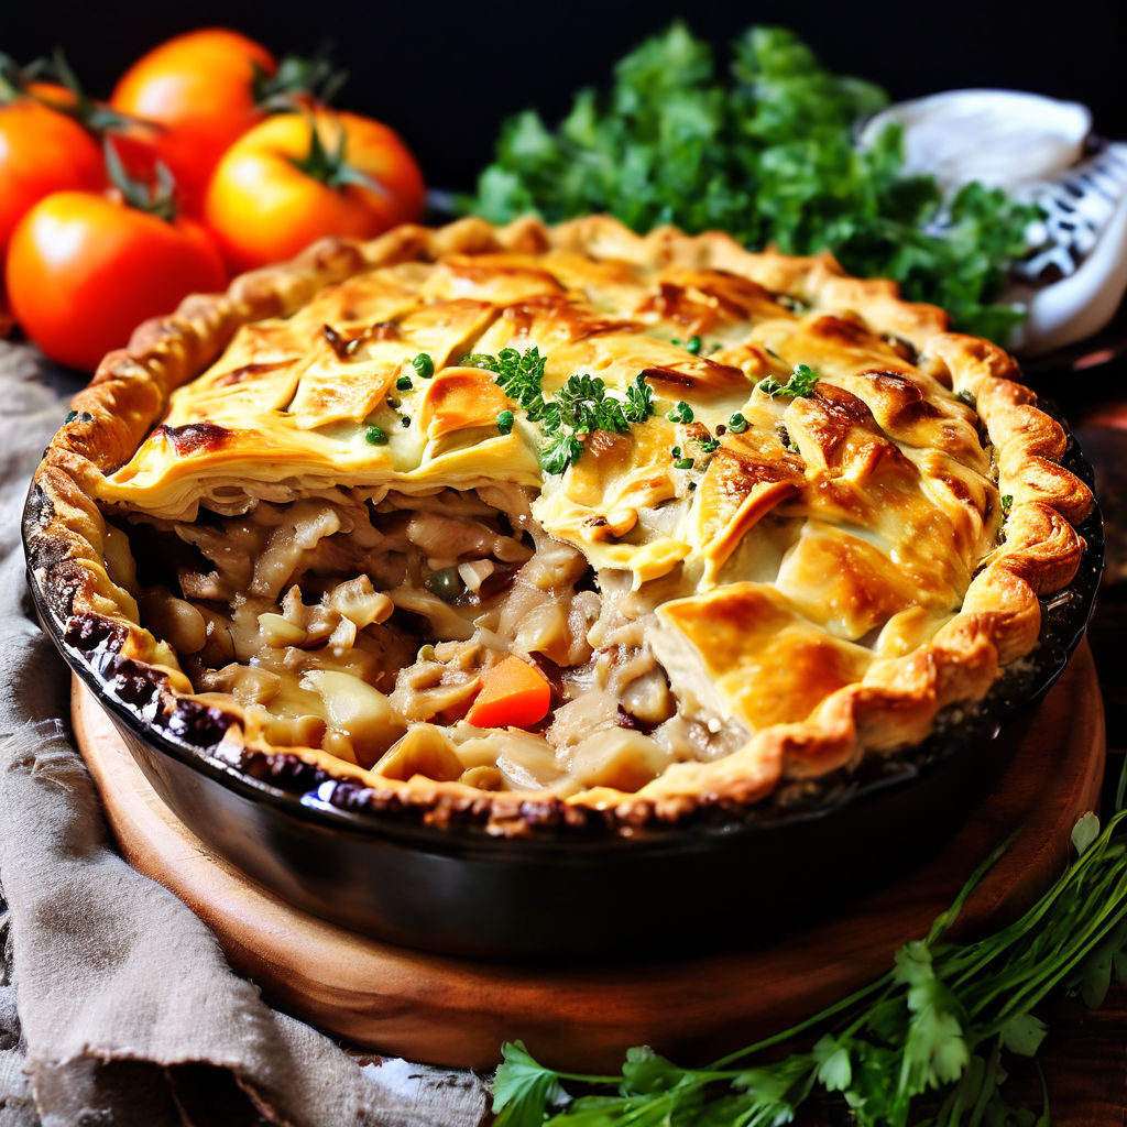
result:
<svg viewBox="0 0 1127 1127"><path fill-rule="evenodd" d="M477 1127L481 1077L361 1066L267 1006L114 851L26 594L27 481L77 387L44 369L0 341L0 1127Z"/></svg>

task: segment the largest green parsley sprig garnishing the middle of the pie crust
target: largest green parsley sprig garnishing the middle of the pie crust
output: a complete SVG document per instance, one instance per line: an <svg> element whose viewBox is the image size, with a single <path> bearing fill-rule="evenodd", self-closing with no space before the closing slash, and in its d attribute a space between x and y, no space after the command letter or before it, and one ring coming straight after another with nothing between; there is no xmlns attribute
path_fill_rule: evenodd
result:
<svg viewBox="0 0 1127 1127"><path fill-rule="evenodd" d="M540 464L548 473L562 473L583 454L584 442L594 431L625 434L632 424L645 423L654 414L654 390L641 374L627 385L624 398L610 394L597 376L571 375L553 399L544 400L545 357L539 348L523 354L502 348L496 356L473 353L462 358L469 367L480 367L497 375L496 383L538 424L542 438ZM505 416L503 419L502 416ZM513 428L511 411L497 416L498 429Z"/></svg>

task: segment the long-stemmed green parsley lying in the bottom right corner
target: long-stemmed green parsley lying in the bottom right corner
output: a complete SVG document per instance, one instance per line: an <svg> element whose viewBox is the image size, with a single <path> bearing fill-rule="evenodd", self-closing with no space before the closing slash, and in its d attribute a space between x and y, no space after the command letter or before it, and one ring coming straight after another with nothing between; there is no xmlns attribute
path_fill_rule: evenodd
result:
<svg viewBox="0 0 1127 1127"><path fill-rule="evenodd" d="M1099 1005L1112 971L1127 979L1127 809L1106 828L1086 814L1073 831L1077 859L1021 919L974 943L942 937L979 867L928 937L906 943L894 968L808 1021L704 1068L682 1068L646 1047L618 1076L560 1073L520 1041L506 1044L494 1082L497 1127L774 1127L815 1093L844 1100L859 1127L1047 1127L1002 1095L1006 1054L1033 1056L1046 1027L1032 1012L1064 986ZM781 1058L767 1050L822 1036ZM571 1099L561 1081L594 1090Z"/></svg>

